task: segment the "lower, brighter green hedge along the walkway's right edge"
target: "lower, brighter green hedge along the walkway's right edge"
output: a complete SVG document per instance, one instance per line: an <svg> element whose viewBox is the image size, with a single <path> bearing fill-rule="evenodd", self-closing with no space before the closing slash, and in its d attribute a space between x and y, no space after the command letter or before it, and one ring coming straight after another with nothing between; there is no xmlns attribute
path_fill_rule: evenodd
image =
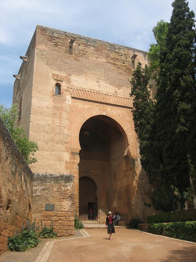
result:
<svg viewBox="0 0 196 262"><path fill-rule="evenodd" d="M148 225L148 232L157 235L163 233L171 238L196 242L196 221L150 224Z"/></svg>

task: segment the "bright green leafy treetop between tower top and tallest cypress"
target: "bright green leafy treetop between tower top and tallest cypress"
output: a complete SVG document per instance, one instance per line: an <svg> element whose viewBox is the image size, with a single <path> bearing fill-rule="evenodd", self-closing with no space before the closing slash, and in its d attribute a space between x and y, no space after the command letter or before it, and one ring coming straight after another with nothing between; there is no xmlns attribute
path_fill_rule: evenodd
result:
<svg viewBox="0 0 196 262"><path fill-rule="evenodd" d="M151 44L148 51L148 60L150 63L150 70L152 71L152 78L157 80L157 74L160 66L160 50L166 42L166 34L168 32L168 23L160 20L157 25L152 29L156 44Z"/></svg>

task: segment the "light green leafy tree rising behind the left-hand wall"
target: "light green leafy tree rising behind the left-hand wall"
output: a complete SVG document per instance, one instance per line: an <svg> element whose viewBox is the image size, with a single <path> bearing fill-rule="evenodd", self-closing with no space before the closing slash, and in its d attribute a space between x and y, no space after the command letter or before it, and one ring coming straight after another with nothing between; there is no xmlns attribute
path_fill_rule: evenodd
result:
<svg viewBox="0 0 196 262"><path fill-rule="evenodd" d="M11 108L6 108L3 105L0 105L0 117L10 132L12 139L15 141L15 144L26 163L32 164L37 162L36 158L32 157L34 153L39 150L37 143L28 139L24 129L21 127L15 127L15 121L18 118L17 104L12 105Z"/></svg>

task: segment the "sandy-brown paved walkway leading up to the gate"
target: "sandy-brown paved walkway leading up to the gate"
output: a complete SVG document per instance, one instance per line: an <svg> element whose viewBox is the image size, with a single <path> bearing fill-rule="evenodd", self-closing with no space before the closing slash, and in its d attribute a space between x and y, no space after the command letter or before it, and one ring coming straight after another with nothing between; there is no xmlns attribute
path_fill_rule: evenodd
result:
<svg viewBox="0 0 196 262"><path fill-rule="evenodd" d="M112 240L107 229L76 231L75 239L60 238L42 243L27 252L5 252L0 261L17 262L153 262L196 261L196 243L152 235L132 229L116 228ZM38 254L32 252L38 250ZM40 252L41 251L41 252ZM14 253L16 256L13 257ZM37 257L37 258L36 258Z"/></svg>

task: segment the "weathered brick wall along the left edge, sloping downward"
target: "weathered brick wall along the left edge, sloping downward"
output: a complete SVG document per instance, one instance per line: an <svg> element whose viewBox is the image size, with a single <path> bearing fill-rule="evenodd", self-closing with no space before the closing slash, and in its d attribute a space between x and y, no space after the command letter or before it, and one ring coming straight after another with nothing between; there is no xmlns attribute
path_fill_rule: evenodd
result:
<svg viewBox="0 0 196 262"><path fill-rule="evenodd" d="M0 118L0 253L8 236L32 220L33 173Z"/></svg>

